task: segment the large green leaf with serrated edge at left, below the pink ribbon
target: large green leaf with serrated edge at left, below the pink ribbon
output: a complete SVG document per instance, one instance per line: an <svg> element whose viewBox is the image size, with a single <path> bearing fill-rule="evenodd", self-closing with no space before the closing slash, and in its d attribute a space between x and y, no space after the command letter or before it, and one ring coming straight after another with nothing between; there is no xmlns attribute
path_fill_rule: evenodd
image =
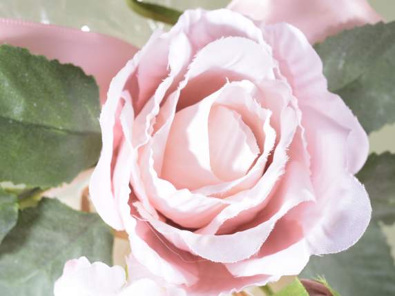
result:
<svg viewBox="0 0 395 296"><path fill-rule="evenodd" d="M0 181L53 187L101 149L95 79L71 64L0 46Z"/></svg>

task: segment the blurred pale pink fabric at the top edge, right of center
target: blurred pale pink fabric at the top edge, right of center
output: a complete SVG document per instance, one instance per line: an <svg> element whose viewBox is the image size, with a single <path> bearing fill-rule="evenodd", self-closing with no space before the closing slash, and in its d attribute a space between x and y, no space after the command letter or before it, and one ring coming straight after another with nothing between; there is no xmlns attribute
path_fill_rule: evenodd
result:
<svg viewBox="0 0 395 296"><path fill-rule="evenodd" d="M228 8L265 23L291 23L311 43L381 20L366 0L233 0Z"/></svg>

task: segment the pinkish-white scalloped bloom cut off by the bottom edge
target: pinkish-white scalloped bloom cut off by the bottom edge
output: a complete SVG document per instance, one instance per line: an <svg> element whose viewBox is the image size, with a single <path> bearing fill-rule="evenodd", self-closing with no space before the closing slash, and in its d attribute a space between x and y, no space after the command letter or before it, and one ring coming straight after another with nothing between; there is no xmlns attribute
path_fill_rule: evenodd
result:
<svg viewBox="0 0 395 296"><path fill-rule="evenodd" d="M66 262L63 274L55 282L55 296L186 296L179 288L164 288L151 279L127 283L124 268L102 262L90 264L86 257Z"/></svg>

